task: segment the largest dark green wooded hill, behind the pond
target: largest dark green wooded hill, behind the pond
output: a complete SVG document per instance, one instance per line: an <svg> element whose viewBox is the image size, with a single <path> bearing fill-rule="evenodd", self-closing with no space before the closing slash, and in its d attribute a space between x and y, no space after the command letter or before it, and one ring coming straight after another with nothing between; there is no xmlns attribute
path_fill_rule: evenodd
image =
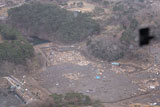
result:
<svg viewBox="0 0 160 107"><path fill-rule="evenodd" d="M87 14L33 2L10 9L9 22L29 36L63 43L76 43L100 31L99 24ZM46 36L47 35L47 36Z"/></svg>

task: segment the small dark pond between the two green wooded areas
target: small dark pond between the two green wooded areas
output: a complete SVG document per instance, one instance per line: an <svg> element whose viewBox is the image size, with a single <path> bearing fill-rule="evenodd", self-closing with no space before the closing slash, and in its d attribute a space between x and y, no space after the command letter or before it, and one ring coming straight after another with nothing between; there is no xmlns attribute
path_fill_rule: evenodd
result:
<svg viewBox="0 0 160 107"><path fill-rule="evenodd" d="M40 39L37 36L31 36L28 41L30 43L32 43L33 45L38 45L38 44L43 44L43 43L49 43L50 42L50 41L45 40L45 39Z"/></svg>

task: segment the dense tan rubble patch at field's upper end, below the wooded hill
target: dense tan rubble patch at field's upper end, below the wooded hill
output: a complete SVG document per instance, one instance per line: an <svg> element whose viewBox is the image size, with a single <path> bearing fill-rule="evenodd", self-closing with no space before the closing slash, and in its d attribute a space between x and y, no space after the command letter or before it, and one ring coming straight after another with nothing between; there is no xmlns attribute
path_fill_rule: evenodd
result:
<svg viewBox="0 0 160 107"><path fill-rule="evenodd" d="M78 50L74 50L75 46L57 46L52 43L36 45L36 52L42 54L46 59L46 66L60 65L63 63L71 63L79 66L92 66L97 69L97 73L102 74L105 67L102 64L86 59Z"/></svg>

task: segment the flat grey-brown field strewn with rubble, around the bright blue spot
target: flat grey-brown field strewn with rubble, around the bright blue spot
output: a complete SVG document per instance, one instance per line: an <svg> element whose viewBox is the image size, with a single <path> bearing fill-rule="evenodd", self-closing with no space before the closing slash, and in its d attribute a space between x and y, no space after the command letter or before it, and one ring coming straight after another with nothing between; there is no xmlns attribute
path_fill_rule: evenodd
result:
<svg viewBox="0 0 160 107"><path fill-rule="evenodd" d="M159 45L153 47L156 49L145 48L152 57L160 49ZM51 93L81 92L99 99L106 107L128 107L133 103L160 105L160 65L153 58L149 63L142 62L143 66L123 60L119 61L120 66L115 66L91 61L74 46L50 45L40 49L47 67L33 77Z"/></svg>

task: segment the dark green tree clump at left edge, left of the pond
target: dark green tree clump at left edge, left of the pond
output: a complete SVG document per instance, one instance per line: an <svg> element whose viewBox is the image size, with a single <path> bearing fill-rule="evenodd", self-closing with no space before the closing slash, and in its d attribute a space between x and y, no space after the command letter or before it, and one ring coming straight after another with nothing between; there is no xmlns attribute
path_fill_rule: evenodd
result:
<svg viewBox="0 0 160 107"><path fill-rule="evenodd" d="M34 56L34 49L16 29L0 25L3 42L0 43L0 62L9 61L23 64L26 59Z"/></svg>

